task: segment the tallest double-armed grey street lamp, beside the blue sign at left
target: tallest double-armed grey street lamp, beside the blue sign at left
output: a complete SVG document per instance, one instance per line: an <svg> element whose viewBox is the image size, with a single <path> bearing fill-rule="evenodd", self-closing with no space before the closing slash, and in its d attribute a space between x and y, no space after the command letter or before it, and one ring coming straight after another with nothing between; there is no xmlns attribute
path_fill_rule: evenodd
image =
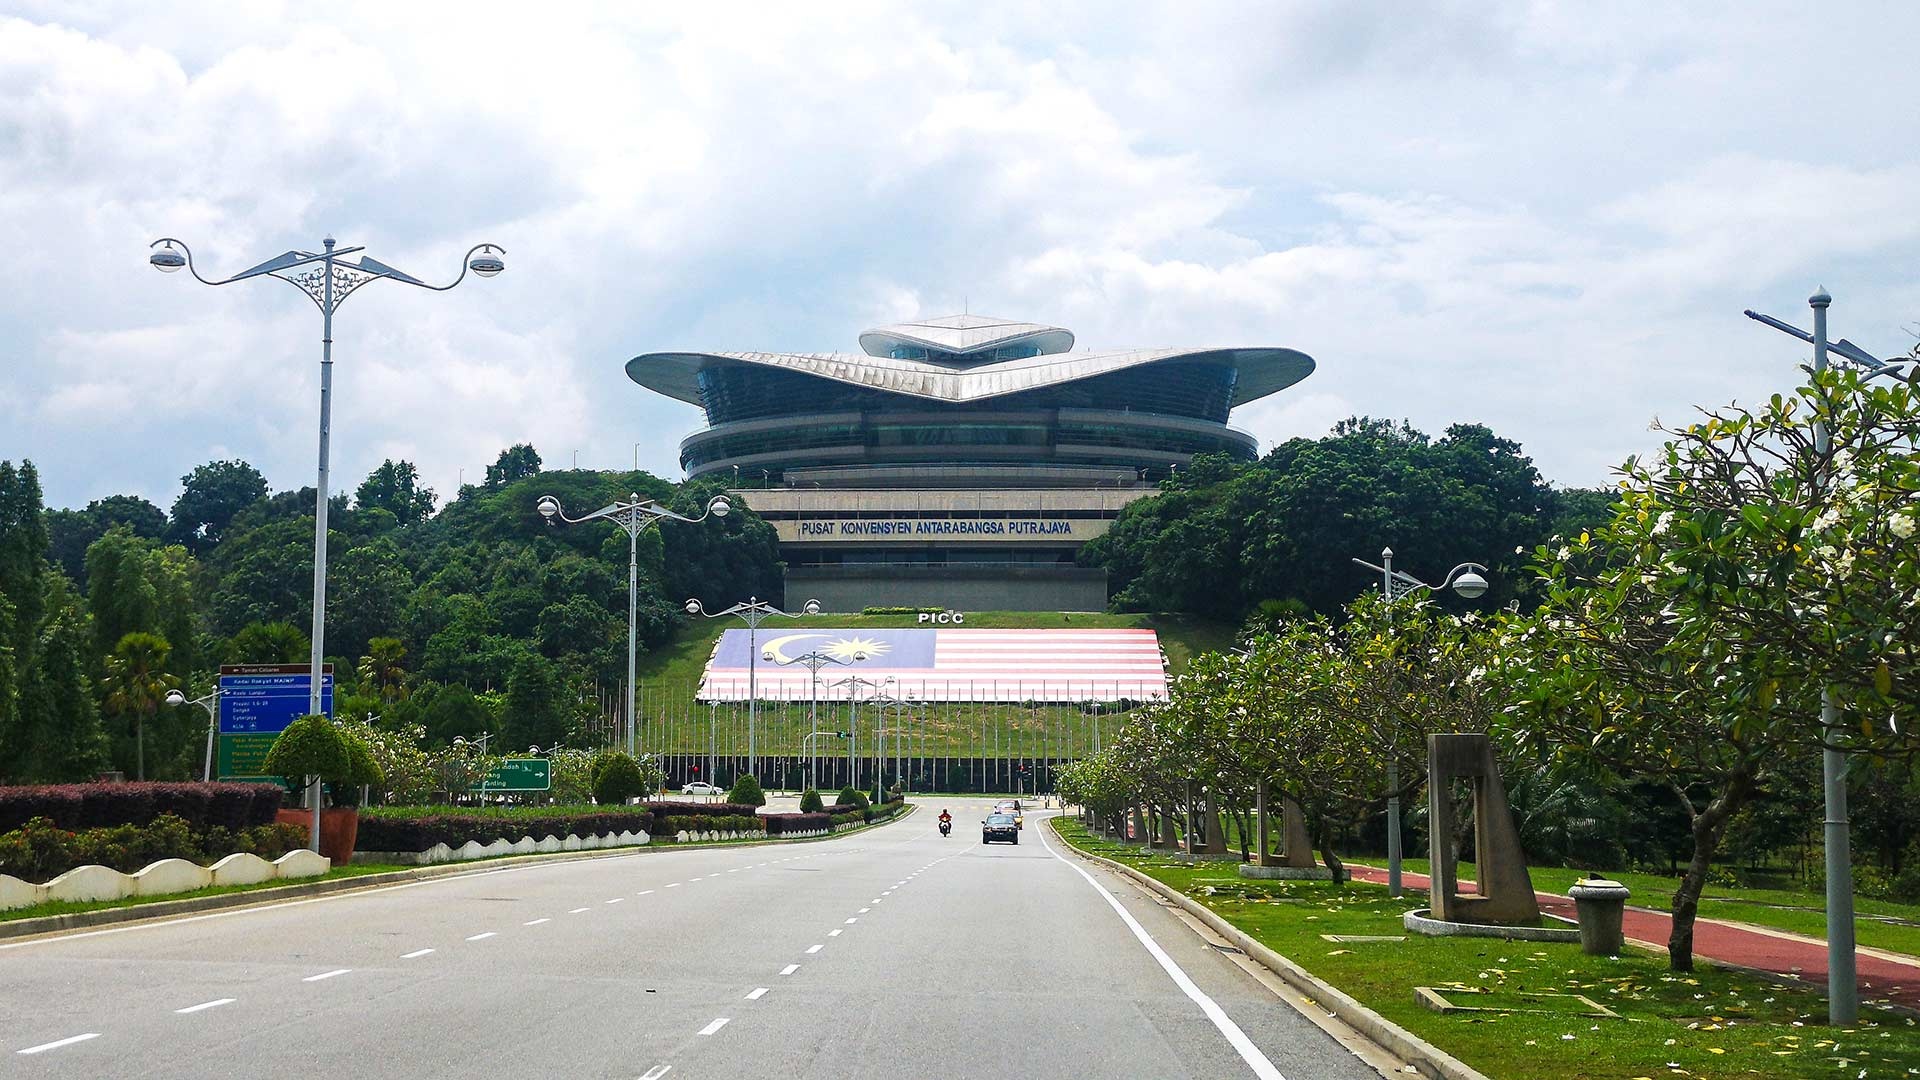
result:
<svg viewBox="0 0 1920 1080"><path fill-rule="evenodd" d="M179 244L179 250L175 250ZM430 288L434 292L447 292L455 284L467 281L467 271L478 277L493 277L507 269L501 259L503 248L493 244L474 244L467 250L467 259L461 267L461 275L449 284L426 284L424 281L397 271L372 256L361 256L357 259L348 259L355 252L365 252L367 248L334 248L334 238L326 236L321 240L321 252L282 252L255 267L244 269L232 277L207 281L200 277L200 269L194 267L194 252L173 236L161 236L148 244L148 248L157 248L146 261L161 271L175 273L186 267L186 273L194 275L200 284L232 284L236 281L248 281L253 277L276 277L301 292L307 300L313 300L315 307L321 309L321 467L313 490L313 686L309 688L307 713L321 713L321 663L324 655L326 640L326 452L332 434L332 409L334 409L334 311L346 304L348 296L369 281L397 281L401 284L413 284L419 288ZM315 851L321 849L321 780L315 778L307 788L307 801L313 805L313 826L307 836L307 846Z"/></svg>

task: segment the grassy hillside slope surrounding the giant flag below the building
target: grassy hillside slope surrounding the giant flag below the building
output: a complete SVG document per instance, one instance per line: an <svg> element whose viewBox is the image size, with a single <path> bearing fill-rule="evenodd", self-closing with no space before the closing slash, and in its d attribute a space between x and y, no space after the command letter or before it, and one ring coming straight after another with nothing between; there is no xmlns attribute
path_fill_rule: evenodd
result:
<svg viewBox="0 0 1920 1080"><path fill-rule="evenodd" d="M801 619L772 619L760 632L791 632L820 628L899 628L918 626L914 615L814 615ZM743 626L739 619L697 621L680 638L639 659L641 744L666 753L745 753L747 705L701 705L693 701L701 671L712 655L722 630ZM1233 626L1188 615L1106 615L1106 613L1044 613L1044 611L981 611L966 615L966 628L1112 628L1139 626L1160 634L1173 675L1202 651L1233 644ZM1092 748L1096 728L1112 732L1117 723L1114 705L1098 709L1079 705L1016 705L939 701L885 709L876 724L876 709L860 709L858 732L862 757L872 751L876 726L881 734L899 730L902 744L910 742L916 755L956 757L1073 757ZM849 730L847 701L820 703L820 728ZM806 701L762 701L758 707L756 746L762 755L801 755L808 732ZM847 751L841 740L814 740L824 755ZM891 751L891 742L889 742Z"/></svg>

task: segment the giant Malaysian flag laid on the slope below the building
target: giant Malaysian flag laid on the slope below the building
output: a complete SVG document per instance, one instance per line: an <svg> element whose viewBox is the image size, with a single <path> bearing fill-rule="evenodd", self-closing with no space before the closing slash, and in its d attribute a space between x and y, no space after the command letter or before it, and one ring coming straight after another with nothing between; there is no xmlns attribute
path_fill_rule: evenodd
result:
<svg viewBox="0 0 1920 1080"><path fill-rule="evenodd" d="M849 678L883 682L916 701L1154 701L1167 696L1154 630L801 630L758 634L749 673L747 630L714 642L701 701L845 700ZM820 682L806 657L820 663ZM749 684L753 690L749 692ZM872 696L872 688L860 692Z"/></svg>

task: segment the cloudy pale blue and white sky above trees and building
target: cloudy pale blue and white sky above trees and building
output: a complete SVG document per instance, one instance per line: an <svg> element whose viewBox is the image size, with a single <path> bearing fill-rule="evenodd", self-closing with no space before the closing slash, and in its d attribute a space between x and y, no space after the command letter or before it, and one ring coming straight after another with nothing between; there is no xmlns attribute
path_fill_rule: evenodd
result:
<svg viewBox="0 0 1920 1080"><path fill-rule="evenodd" d="M1599 484L1789 386L1816 284L1920 323L1912 4L6 4L0 459L50 505L313 482L321 321L225 277L324 234L444 282L336 319L336 486L507 444L680 477L662 348L977 313L1292 346L1263 444L1480 421ZM1605 15L1597 15L1605 10ZM184 12L184 13L182 13ZM323 13L315 13L323 12ZM536 13L538 12L538 13Z"/></svg>

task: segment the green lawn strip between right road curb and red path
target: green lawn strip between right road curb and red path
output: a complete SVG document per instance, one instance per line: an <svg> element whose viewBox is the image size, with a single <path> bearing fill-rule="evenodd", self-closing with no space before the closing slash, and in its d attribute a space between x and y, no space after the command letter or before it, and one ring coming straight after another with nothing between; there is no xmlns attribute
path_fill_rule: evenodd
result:
<svg viewBox="0 0 1920 1080"><path fill-rule="evenodd" d="M1578 945L1494 938L1336 944L1321 934L1405 934L1400 917L1425 901L1384 886L1250 882L1233 865L1187 867L1135 846L1091 838L1056 819L1062 836L1133 865L1229 919L1267 947L1352 994L1467 1065L1501 1080L1845 1078L1910 1080L1920 1028L1862 1007L1857 1026L1824 1024L1824 995L1749 974L1701 967L1667 970L1665 955L1628 949L1588 957ZM1415 1003L1415 986L1517 994L1582 994L1620 1019L1528 1013L1442 1015Z"/></svg>

